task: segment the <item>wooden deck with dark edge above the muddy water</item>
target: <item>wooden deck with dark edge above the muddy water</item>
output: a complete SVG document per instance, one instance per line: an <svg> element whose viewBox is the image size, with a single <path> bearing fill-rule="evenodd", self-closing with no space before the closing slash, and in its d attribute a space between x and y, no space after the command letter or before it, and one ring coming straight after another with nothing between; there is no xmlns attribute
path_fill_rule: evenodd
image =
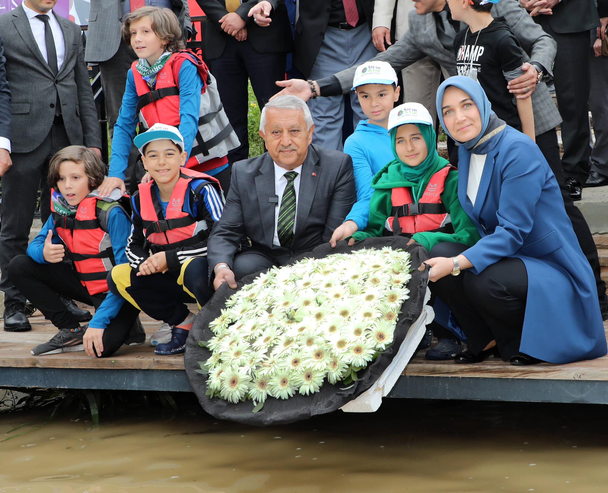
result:
<svg viewBox="0 0 608 493"><path fill-rule="evenodd" d="M56 329L39 312L31 332L0 330L0 387L190 391L181 356L157 356L149 344L123 346L111 358L84 352L32 356ZM159 322L142 315L148 336ZM608 333L608 322L604 324ZM0 322L1 328L1 322ZM513 367L490 358L475 365L432 362L419 352L393 397L608 404L608 356L568 365Z"/></svg>

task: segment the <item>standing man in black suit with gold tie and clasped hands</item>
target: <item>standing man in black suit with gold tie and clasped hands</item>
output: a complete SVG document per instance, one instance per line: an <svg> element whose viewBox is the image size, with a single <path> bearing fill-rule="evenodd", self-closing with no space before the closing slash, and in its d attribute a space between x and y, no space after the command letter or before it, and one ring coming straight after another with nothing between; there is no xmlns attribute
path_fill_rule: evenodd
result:
<svg viewBox="0 0 608 493"><path fill-rule="evenodd" d="M218 82L219 97L241 145L228 153L229 163L249 157L247 110L251 81L260 110L276 94L274 81L285 79L292 37L283 0L269 0L274 22L261 29L247 16L258 0L196 0L207 15L206 62Z"/></svg>

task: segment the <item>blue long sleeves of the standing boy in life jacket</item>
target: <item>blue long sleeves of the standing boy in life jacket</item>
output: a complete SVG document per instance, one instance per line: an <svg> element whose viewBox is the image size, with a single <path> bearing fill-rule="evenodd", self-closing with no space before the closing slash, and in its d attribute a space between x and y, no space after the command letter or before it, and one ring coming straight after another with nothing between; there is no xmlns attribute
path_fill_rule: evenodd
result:
<svg viewBox="0 0 608 493"><path fill-rule="evenodd" d="M198 75L195 64L184 60L179 69L179 133L184 137L184 146L190 157L198 131L198 117L201 110L202 80ZM133 70L126 75L125 95L122 97L122 106L112 138L112 155L108 176L125 180L125 171L128 164L129 153L133 138L137 130L138 116L136 114L139 96L135 88Z"/></svg>

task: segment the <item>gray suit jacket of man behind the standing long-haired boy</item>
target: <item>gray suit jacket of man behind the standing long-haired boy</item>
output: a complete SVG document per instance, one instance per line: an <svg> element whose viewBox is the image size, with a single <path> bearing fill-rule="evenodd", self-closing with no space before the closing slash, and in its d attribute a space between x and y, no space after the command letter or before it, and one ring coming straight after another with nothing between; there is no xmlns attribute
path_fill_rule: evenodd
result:
<svg viewBox="0 0 608 493"><path fill-rule="evenodd" d="M188 30L192 32L188 0L172 0L173 12L182 28L184 40ZM102 62L116 55L122 42L122 13L124 0L91 0L89 27L87 29L85 60Z"/></svg>

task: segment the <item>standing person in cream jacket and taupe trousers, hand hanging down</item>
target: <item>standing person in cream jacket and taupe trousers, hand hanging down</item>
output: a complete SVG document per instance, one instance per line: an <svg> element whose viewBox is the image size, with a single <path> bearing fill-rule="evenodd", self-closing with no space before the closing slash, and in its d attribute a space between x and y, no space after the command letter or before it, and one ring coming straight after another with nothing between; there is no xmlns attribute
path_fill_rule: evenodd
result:
<svg viewBox="0 0 608 493"><path fill-rule="evenodd" d="M374 4L374 20L371 27L371 37L376 50L386 51L391 45L391 35L397 41L407 32L407 18L416 7L412 0L376 0ZM395 18L395 32L391 25ZM402 96L404 101L422 104L437 123L435 110L435 94L441 78L441 67L430 56L425 56L409 67L401 70Z"/></svg>

